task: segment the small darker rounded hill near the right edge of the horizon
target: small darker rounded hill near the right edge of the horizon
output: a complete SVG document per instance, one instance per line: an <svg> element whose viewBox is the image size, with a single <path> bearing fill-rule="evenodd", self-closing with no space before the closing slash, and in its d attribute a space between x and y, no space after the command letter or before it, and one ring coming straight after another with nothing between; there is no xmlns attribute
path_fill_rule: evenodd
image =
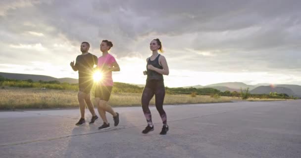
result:
<svg viewBox="0 0 301 158"><path fill-rule="evenodd" d="M250 91L251 94L270 94L270 92L285 93L289 96L296 96L292 89L278 86L259 86Z"/></svg>

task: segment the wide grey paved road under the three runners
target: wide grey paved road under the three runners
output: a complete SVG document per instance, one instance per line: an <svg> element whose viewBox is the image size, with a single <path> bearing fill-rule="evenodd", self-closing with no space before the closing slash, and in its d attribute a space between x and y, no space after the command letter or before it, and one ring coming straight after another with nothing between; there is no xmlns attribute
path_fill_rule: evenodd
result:
<svg viewBox="0 0 301 158"><path fill-rule="evenodd" d="M0 158L301 158L301 100L164 106L167 135L154 107L149 134L141 107L114 109L105 131L78 109L0 112Z"/></svg>

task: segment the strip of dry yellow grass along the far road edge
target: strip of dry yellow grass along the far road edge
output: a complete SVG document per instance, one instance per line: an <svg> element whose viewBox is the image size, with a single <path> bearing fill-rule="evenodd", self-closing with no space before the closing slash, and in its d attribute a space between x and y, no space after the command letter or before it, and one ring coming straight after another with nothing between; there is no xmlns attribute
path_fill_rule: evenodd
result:
<svg viewBox="0 0 301 158"><path fill-rule="evenodd" d="M94 101L93 95L91 95ZM238 97L210 97L207 95L166 95L165 105L197 104L197 103L220 103L241 100ZM272 101L282 99L257 99L250 98L248 101ZM113 93L109 104L113 107L140 106L140 93ZM154 97L151 100L154 105ZM0 89L0 109L28 109L28 108L71 108L78 107L77 91L73 90L41 90L39 88L5 87Z"/></svg>

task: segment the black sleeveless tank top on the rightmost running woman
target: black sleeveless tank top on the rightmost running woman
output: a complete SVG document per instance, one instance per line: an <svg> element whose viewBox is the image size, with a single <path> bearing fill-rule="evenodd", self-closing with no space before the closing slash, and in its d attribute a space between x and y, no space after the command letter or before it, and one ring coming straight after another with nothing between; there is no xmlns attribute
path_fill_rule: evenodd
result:
<svg viewBox="0 0 301 158"><path fill-rule="evenodd" d="M152 65L153 67L158 68L158 69L163 69L163 67L159 64L159 57L160 57L160 54L158 54L158 56L153 61L151 61L151 57L149 58L148 64L147 64L147 71L148 71L147 80L153 80L153 79L154 80L163 80L162 74L159 74L153 70L148 69L148 65Z"/></svg>

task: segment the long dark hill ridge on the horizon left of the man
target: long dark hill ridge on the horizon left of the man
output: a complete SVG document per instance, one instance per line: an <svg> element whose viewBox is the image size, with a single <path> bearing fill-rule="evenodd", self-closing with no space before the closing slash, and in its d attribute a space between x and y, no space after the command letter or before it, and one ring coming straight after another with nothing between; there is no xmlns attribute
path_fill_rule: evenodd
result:
<svg viewBox="0 0 301 158"><path fill-rule="evenodd" d="M19 80L26 80L26 79L32 79L33 81L50 81L50 80L58 80L59 82L67 82L67 83L78 83L78 79L72 79L72 78L53 78L50 76L44 76L44 75L30 75L30 74L13 74L13 73L1 73L0 76L6 79L19 79Z"/></svg>

